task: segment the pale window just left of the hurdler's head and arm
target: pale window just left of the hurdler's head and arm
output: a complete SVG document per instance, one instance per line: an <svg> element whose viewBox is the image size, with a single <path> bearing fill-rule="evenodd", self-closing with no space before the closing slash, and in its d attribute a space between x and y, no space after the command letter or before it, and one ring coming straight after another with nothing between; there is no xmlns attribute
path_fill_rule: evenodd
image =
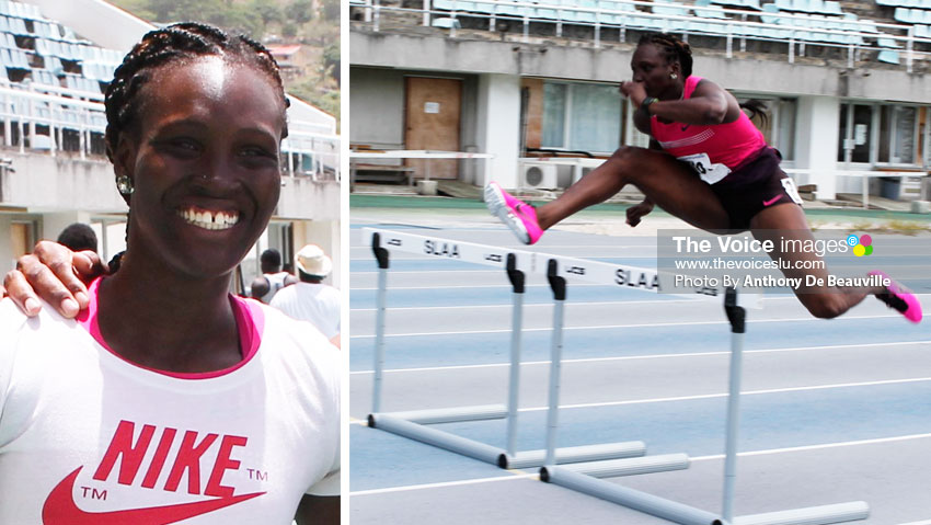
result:
<svg viewBox="0 0 931 525"><path fill-rule="evenodd" d="M621 140L621 94L614 84L543 83L543 148L612 152Z"/></svg>

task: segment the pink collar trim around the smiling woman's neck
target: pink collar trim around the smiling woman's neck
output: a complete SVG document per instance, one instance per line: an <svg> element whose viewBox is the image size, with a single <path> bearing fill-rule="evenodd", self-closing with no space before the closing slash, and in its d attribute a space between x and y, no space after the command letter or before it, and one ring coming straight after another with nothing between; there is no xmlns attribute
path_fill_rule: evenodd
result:
<svg viewBox="0 0 931 525"><path fill-rule="evenodd" d="M88 287L89 296L90 296L90 305L85 310L81 310L78 313L76 320L78 324L84 328L88 333L91 334L92 338L103 346L107 352L119 358L120 361L128 363L137 368L141 368L143 370L153 372L156 374L161 374L163 376L174 377L177 379L210 379L214 377L225 376L227 374L231 374L239 368L243 367L246 363L249 363L252 357L258 353L258 346L262 344L262 332L265 328L265 313L262 311L262 307L254 300L244 300L234 295L229 296L230 306L233 310L233 316L235 317L235 326L239 331L239 344L240 349L242 349L243 356L242 361L237 363L233 366L222 368L219 370L212 372L198 372L198 373L184 373L184 372L169 372L169 370L160 370L158 368L150 368L148 366L142 366L138 363L134 363L131 361L126 359L118 353L114 352L113 349L106 344L106 341L103 339L103 334L100 331L100 324L97 322L97 294L100 292L100 284L104 279L104 277L97 277L93 283Z"/></svg>

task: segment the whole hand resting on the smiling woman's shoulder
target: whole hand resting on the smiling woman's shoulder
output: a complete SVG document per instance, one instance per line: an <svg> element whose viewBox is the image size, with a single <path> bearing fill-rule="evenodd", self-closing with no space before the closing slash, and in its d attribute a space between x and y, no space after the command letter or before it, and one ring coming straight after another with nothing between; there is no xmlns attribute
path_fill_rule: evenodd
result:
<svg viewBox="0 0 931 525"><path fill-rule="evenodd" d="M93 251L72 252L57 242L38 241L33 253L21 256L16 270L7 273L0 289L5 287L13 303L30 317L38 315L42 297L71 318L88 307L88 287L82 279L90 282L104 273L106 267Z"/></svg>

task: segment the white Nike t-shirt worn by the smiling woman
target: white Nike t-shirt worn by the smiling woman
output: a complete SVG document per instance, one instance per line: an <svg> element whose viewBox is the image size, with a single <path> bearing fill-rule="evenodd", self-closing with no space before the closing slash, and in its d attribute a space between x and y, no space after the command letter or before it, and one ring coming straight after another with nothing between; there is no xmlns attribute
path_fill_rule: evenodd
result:
<svg viewBox="0 0 931 525"><path fill-rule="evenodd" d="M338 494L340 353L257 301L237 311L239 365L166 375L93 322L0 301L0 524L289 525L304 493Z"/></svg>

